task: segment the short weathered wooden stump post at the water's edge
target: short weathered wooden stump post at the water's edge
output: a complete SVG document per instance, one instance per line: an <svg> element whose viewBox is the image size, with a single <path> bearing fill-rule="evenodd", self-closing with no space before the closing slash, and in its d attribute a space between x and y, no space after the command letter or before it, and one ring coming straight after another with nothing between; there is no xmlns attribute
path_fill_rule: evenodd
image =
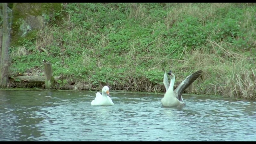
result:
<svg viewBox="0 0 256 144"><path fill-rule="evenodd" d="M44 63L44 77L45 77L45 88L50 89L54 86L54 77L52 75L52 64Z"/></svg>

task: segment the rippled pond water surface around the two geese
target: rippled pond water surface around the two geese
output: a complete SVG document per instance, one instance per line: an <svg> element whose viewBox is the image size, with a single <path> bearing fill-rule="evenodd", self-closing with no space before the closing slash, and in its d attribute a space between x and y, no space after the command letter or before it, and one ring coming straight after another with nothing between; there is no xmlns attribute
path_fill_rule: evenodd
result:
<svg viewBox="0 0 256 144"><path fill-rule="evenodd" d="M96 92L0 90L1 141L255 141L255 102L110 91L114 106L91 106Z"/></svg>

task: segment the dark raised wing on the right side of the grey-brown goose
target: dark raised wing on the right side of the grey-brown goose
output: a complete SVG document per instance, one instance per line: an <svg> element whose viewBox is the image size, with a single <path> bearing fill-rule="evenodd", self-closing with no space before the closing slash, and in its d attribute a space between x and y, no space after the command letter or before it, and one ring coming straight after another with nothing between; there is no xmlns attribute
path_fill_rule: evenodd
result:
<svg viewBox="0 0 256 144"><path fill-rule="evenodd" d="M199 76L202 74L202 70L198 70L197 72L187 76L180 85L174 90L175 93L177 93L177 99L181 100L181 95L184 92L184 90L192 84Z"/></svg>

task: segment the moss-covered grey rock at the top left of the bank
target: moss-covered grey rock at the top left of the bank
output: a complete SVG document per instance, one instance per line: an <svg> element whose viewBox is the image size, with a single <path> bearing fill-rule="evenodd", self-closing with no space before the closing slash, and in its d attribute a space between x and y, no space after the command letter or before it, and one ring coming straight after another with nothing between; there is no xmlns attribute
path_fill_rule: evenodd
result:
<svg viewBox="0 0 256 144"><path fill-rule="evenodd" d="M36 38L35 31L55 19L61 8L61 3L13 3L11 45L22 45L24 39Z"/></svg>

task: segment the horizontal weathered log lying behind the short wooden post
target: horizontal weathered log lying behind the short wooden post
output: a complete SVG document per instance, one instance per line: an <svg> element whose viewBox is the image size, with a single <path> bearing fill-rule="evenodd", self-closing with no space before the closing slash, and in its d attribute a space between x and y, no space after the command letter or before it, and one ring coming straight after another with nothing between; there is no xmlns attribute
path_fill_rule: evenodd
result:
<svg viewBox="0 0 256 144"><path fill-rule="evenodd" d="M53 76L54 81L61 80L61 76ZM45 76L16 76L13 78L15 81L22 82L45 82Z"/></svg>

